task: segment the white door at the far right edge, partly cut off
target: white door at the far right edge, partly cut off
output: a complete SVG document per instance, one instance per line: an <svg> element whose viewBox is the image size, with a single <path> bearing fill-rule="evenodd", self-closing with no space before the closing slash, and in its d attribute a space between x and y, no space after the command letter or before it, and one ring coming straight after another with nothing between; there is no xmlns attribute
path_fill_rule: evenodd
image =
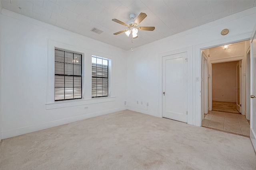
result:
<svg viewBox="0 0 256 170"><path fill-rule="evenodd" d="M251 43L251 116L250 116L250 139L256 150L256 37Z"/></svg>

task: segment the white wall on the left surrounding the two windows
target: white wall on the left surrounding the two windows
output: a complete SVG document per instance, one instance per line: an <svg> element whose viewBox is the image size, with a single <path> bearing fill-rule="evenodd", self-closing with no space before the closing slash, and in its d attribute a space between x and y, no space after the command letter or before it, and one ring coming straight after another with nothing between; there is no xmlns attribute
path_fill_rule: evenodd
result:
<svg viewBox="0 0 256 170"><path fill-rule="evenodd" d="M1 23L2 139L126 109L126 51L7 10ZM85 53L83 100L54 104L54 45ZM89 97L91 55L112 59L111 98Z"/></svg>

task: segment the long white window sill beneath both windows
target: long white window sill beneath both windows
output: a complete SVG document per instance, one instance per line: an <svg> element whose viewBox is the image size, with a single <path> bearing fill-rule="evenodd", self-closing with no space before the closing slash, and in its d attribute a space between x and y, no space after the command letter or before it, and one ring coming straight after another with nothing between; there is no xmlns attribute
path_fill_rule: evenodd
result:
<svg viewBox="0 0 256 170"><path fill-rule="evenodd" d="M104 102L113 102L116 97L105 97L105 98L92 98L92 99L78 99L78 100L68 100L68 101L59 101L54 103L46 103L46 110L48 109L57 109L62 107L72 107L72 106L81 106L87 104L97 104Z"/></svg>

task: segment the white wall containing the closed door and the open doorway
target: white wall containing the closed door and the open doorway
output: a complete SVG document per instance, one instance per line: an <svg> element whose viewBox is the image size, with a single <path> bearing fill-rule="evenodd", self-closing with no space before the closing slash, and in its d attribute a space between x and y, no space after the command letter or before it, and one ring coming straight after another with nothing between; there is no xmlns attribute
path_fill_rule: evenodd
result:
<svg viewBox="0 0 256 170"><path fill-rule="evenodd" d="M192 94L188 95L188 124L200 126L201 83L196 81L196 77L200 78L201 49L248 39L251 37L255 22L256 10L252 8L129 51L127 58L128 108L161 117L162 77L159 75L162 70L159 55L192 47L190 51L193 53L192 60L188 60L188 93ZM223 36L220 32L225 28L230 32ZM149 106L140 108L136 101L149 102Z"/></svg>

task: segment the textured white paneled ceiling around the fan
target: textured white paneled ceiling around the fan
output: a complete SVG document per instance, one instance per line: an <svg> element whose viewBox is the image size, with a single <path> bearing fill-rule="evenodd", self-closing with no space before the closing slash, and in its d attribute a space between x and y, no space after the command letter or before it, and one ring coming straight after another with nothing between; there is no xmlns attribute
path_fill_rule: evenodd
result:
<svg viewBox="0 0 256 170"><path fill-rule="evenodd" d="M198 27L211 21L256 7L255 0L1 0L2 8L114 45L131 49ZM154 31L140 31L138 38L124 33L114 21L127 23L129 14L144 12L139 26L154 26ZM99 35L90 31L102 30Z"/></svg>

